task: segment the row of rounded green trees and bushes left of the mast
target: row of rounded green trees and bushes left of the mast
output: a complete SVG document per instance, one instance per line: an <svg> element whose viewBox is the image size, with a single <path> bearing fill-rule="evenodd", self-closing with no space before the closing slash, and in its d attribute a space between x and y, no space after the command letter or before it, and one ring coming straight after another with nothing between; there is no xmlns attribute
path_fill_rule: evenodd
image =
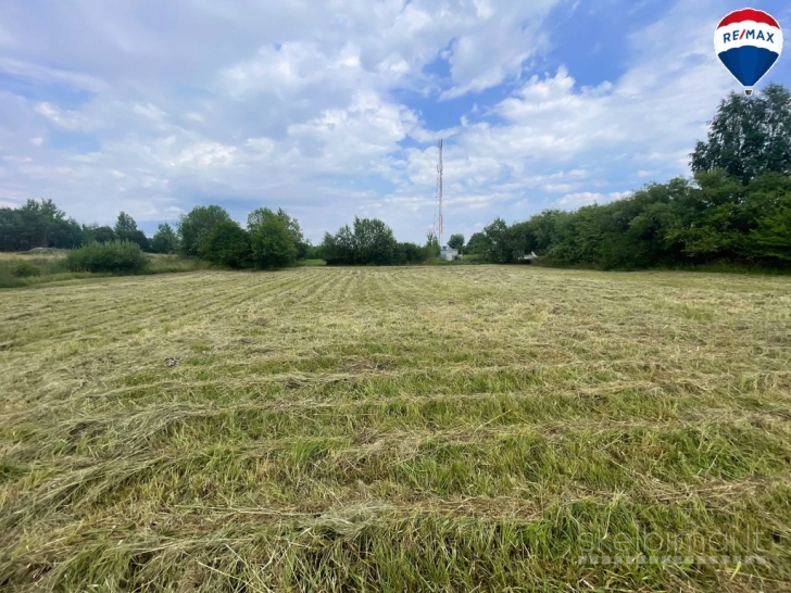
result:
<svg viewBox="0 0 791 593"><path fill-rule="evenodd" d="M0 251L75 250L118 242L131 243L142 252L180 254L237 269L286 267L311 257L325 258L329 265L415 264L439 253L431 237L422 247L399 242L384 222L359 217L351 228L346 225L336 235L326 234L322 244L313 247L299 222L282 209L256 209L242 228L219 205L196 206L174 226L159 225L151 238L125 212L111 227L80 225L52 200L27 200L18 209L0 209ZM117 247L105 251L130 253ZM93 248L86 253L98 255L100 251Z"/></svg>

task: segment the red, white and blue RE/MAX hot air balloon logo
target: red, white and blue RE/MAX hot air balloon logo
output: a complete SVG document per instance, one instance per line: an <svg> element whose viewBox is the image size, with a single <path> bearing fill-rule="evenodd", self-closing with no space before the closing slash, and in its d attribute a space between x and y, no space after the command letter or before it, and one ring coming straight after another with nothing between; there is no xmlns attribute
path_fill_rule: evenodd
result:
<svg viewBox="0 0 791 593"><path fill-rule="evenodd" d="M714 31L714 49L726 68L744 87L745 94L782 52L782 29L769 14L742 9L728 14Z"/></svg>

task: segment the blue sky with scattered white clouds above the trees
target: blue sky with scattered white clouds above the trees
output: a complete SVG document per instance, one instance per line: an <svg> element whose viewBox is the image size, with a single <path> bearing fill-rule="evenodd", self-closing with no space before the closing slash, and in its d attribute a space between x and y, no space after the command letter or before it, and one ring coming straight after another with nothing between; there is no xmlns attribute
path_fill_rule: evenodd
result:
<svg viewBox="0 0 791 593"><path fill-rule="evenodd" d="M321 242L402 241L689 175L741 87L730 0L2 0L0 205L49 198L148 235L196 205L282 207ZM791 41L791 4L754 1ZM782 55L758 84L791 86ZM443 241L444 242L444 241Z"/></svg>

